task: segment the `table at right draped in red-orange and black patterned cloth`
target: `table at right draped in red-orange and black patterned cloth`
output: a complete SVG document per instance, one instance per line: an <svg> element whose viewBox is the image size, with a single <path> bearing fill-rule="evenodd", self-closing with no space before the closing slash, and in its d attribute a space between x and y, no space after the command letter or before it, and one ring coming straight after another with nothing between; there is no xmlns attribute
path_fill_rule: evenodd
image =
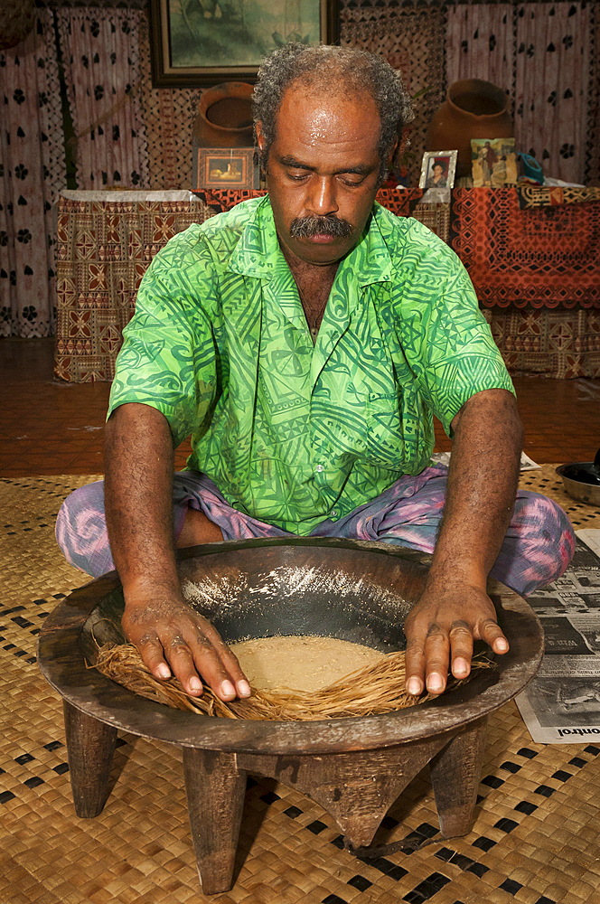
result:
<svg viewBox="0 0 600 904"><path fill-rule="evenodd" d="M455 189L450 245L511 372L600 376L600 190Z"/></svg>

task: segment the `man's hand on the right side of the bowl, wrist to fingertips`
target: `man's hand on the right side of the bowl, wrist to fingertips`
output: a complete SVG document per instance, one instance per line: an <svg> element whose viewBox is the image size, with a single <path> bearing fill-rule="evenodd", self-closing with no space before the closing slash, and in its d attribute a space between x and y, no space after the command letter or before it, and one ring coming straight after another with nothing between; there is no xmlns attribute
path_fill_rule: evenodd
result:
<svg viewBox="0 0 600 904"><path fill-rule="evenodd" d="M450 664L455 678L471 672L473 640L484 640L494 653L506 653L509 643L496 620L492 600L477 587L426 589L410 612L407 636L407 692L424 688L442 693Z"/></svg>

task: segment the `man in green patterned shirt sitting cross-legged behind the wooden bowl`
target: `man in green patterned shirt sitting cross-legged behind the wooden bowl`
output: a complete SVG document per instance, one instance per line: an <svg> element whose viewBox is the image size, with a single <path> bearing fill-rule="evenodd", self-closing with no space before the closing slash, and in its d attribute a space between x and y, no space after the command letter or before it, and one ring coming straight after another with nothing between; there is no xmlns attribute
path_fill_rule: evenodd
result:
<svg viewBox="0 0 600 904"><path fill-rule="evenodd" d="M69 497L57 536L89 574L117 568L125 633L157 677L222 700L248 682L183 600L176 545L310 535L433 552L407 687L441 692L449 666L469 673L473 639L508 649L488 575L529 593L566 569L573 532L517 493L511 380L462 264L375 203L411 115L398 75L292 44L264 62L254 102L268 195L156 255L117 360L106 480ZM431 464L433 414L449 471Z"/></svg>

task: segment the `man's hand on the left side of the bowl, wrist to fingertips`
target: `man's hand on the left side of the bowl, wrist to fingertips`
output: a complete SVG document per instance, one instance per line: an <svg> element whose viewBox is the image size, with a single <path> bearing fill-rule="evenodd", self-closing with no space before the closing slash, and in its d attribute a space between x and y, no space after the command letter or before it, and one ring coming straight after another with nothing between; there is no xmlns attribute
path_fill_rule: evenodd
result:
<svg viewBox="0 0 600 904"><path fill-rule="evenodd" d="M128 601L121 623L155 678L174 675L195 697L202 694L201 677L222 701L250 696L237 657L216 628L183 599Z"/></svg>

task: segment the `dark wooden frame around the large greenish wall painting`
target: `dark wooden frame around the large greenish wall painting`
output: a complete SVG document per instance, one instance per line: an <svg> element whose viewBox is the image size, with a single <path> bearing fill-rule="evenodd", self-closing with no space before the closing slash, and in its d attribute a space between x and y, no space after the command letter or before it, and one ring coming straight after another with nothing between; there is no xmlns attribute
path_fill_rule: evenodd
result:
<svg viewBox="0 0 600 904"><path fill-rule="evenodd" d="M202 0L197 0L197 2L202 8ZM217 28L214 23L217 22L216 11L220 8L220 0L209 0L209 2L215 11L212 26ZM238 2L243 3L243 0L238 0ZM260 2L264 2L264 0L260 0ZM340 0L305 0L305 2L313 5L315 17L318 13L319 41L314 43L339 43ZM150 0L150 56L153 88L205 88L223 81L247 81L250 83L256 81L258 66L264 56L264 54L260 56L258 51L256 64L251 65L233 63L226 66L173 66L172 17L170 13L172 3L180 3L180 0ZM231 7L232 0L228 5ZM210 32L210 19L202 19L202 29ZM281 37L281 35L279 36ZM273 50L275 50L275 46Z"/></svg>

